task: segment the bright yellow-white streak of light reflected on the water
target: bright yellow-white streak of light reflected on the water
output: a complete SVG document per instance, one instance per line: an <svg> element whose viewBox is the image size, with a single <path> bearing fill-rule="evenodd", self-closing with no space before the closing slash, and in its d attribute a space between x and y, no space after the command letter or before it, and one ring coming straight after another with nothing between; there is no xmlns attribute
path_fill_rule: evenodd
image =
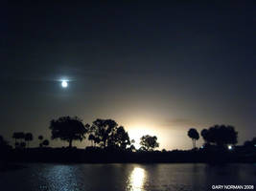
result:
<svg viewBox="0 0 256 191"><path fill-rule="evenodd" d="M146 178L145 170L139 167L135 167L128 178L128 190L143 191L145 178Z"/></svg>

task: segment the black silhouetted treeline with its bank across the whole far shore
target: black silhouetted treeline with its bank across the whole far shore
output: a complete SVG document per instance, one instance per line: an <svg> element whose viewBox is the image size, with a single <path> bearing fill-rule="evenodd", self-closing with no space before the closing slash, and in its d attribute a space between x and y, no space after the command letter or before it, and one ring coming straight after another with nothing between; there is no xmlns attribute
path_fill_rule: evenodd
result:
<svg viewBox="0 0 256 191"><path fill-rule="evenodd" d="M91 125L83 124L79 117L58 117L50 121L52 139L68 142L68 147L51 148L50 141L38 136L39 144L30 148L32 133L14 132L14 148L0 136L0 160L5 161L60 161L60 162L255 162L256 138L236 146L238 132L230 125L214 125L203 129L203 145L198 148L199 133L196 128L187 132L192 139L188 151L155 151L159 147L156 136L140 138L139 149L123 126L113 119L96 119ZM88 140L85 149L73 147L74 140ZM220 157L221 156L221 157Z"/></svg>

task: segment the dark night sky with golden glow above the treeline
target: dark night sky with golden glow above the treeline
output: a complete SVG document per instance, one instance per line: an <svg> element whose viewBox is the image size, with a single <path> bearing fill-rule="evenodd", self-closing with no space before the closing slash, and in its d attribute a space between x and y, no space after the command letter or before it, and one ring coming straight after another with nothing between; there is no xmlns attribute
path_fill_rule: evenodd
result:
<svg viewBox="0 0 256 191"><path fill-rule="evenodd" d="M66 115L113 118L166 149L190 148L190 127L256 136L255 1L58 2L1 13L5 138L50 138L49 121Z"/></svg>

